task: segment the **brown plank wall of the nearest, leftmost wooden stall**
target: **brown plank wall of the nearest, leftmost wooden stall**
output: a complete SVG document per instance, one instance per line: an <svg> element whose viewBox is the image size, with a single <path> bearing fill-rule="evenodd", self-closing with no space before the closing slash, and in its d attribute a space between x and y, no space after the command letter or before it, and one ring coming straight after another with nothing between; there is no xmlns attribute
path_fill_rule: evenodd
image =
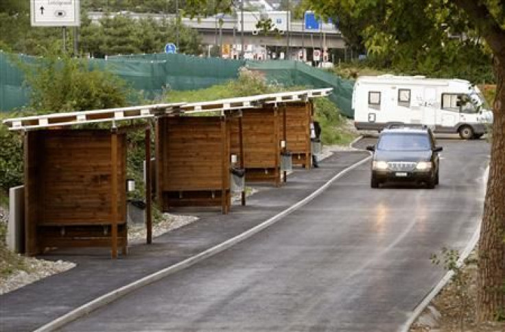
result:
<svg viewBox="0 0 505 332"><path fill-rule="evenodd" d="M27 254L47 247L111 246L111 134L43 130L25 137ZM118 136L117 246L126 250L126 135Z"/></svg>

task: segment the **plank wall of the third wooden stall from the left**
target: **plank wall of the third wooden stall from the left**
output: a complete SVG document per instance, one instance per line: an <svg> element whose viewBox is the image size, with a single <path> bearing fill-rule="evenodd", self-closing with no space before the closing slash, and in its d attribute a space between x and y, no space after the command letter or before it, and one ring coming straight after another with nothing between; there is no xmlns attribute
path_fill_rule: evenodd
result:
<svg viewBox="0 0 505 332"><path fill-rule="evenodd" d="M268 105L262 110L243 110L244 168L246 182L270 182L280 186L281 110ZM231 153L239 156L238 120L232 120Z"/></svg>

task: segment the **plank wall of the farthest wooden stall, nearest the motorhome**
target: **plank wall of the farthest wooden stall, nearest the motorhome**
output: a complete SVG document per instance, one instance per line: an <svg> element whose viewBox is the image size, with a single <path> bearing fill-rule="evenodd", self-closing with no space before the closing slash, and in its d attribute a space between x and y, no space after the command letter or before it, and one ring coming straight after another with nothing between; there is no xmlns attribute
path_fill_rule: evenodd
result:
<svg viewBox="0 0 505 332"><path fill-rule="evenodd" d="M312 102L286 103L279 107L280 112L286 111L286 146L292 153L293 165L310 168L310 121ZM281 114L283 116L283 114ZM283 121L280 121L280 132L283 132Z"/></svg>

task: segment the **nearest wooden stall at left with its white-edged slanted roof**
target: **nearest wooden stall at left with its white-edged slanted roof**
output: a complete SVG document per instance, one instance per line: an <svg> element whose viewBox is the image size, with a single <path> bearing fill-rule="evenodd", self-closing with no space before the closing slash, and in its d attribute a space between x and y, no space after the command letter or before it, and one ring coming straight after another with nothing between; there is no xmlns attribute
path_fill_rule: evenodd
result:
<svg viewBox="0 0 505 332"><path fill-rule="evenodd" d="M113 258L121 248L126 254L126 130L132 127L117 128L116 121L165 114L174 105L180 104L4 121L11 130L24 132L27 255L62 247L108 247ZM112 123L110 129L62 129L106 121ZM146 142L150 140L149 135L148 128ZM146 155L146 159L150 156ZM150 195L146 200L150 243Z"/></svg>

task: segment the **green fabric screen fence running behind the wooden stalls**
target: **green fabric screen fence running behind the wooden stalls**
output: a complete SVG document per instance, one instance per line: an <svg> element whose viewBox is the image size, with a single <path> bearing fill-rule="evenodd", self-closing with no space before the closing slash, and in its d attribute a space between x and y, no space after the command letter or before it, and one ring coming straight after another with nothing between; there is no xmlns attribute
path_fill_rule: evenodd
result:
<svg viewBox="0 0 505 332"><path fill-rule="evenodd" d="M21 57L23 62L34 58ZM141 90L148 99L154 99L164 89L196 90L221 84L238 76L239 68L265 73L270 81L284 86L333 88L330 99L341 112L352 117L351 94L353 81L294 61L240 61L220 58L198 58L183 54L117 55L108 60L91 59L90 66L107 68L110 73L127 81L135 90ZM23 73L8 55L0 52L0 110L12 110L28 103L29 90L23 86Z"/></svg>

